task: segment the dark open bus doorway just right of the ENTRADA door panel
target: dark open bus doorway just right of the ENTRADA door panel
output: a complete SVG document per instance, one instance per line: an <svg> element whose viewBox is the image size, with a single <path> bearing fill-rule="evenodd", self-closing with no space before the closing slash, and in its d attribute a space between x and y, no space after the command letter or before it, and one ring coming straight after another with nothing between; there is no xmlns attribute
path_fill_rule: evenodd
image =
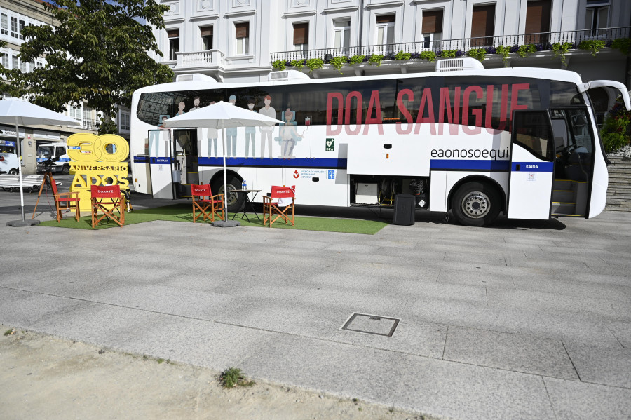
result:
<svg viewBox="0 0 631 420"><path fill-rule="evenodd" d="M173 140L175 194L189 197L191 184L199 184L197 128L175 129Z"/></svg>

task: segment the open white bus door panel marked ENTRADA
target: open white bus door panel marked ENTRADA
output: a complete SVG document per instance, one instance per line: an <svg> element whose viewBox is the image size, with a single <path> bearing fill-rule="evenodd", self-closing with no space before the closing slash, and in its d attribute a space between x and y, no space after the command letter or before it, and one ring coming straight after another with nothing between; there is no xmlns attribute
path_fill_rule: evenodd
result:
<svg viewBox="0 0 631 420"><path fill-rule="evenodd" d="M175 198L172 178L174 160L169 143L169 130L149 130L149 170L154 198Z"/></svg>

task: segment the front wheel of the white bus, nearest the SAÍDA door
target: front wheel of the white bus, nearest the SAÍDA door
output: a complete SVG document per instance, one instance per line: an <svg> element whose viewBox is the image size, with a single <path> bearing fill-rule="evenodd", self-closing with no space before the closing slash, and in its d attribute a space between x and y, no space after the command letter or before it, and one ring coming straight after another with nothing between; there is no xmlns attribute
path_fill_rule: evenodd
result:
<svg viewBox="0 0 631 420"><path fill-rule="evenodd" d="M499 215L501 195L484 182L466 182L452 196L452 212L465 226L488 226Z"/></svg>

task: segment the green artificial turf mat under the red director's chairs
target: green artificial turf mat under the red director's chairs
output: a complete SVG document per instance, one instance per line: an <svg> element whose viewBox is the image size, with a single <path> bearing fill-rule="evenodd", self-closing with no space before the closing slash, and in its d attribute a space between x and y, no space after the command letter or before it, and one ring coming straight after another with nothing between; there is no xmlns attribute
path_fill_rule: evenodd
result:
<svg viewBox="0 0 631 420"><path fill-rule="evenodd" d="M265 229L270 229L268 226L263 226L263 216L259 215L261 220L257 220L254 214L247 213L247 217L250 218L250 222L247 222L245 217L240 219L241 214L235 217L235 220L241 224L241 226L257 226ZM228 219L231 219L233 213L228 213ZM191 212L191 205L187 204L174 204L166 205L164 207L149 208L145 210L134 210L133 212L125 213L125 225L136 224L144 222L153 222L154 220L165 220L168 222L193 222L193 213ZM197 223L210 224L211 222L203 219L198 219ZM285 224L280 220L275 222L271 229L299 229L307 231L326 231L326 232L343 232L343 233L364 233L367 235L374 235L384 226L388 225L386 222L379 222L375 220L358 220L358 219L332 219L326 217L295 217L295 224ZM41 222L39 226L56 226L66 227L72 229L92 229L92 217L84 216L77 222L74 217L66 215L61 222L57 223L56 220L47 220ZM112 222L102 220L94 229L109 229L120 227ZM123 226L124 229L124 226Z"/></svg>

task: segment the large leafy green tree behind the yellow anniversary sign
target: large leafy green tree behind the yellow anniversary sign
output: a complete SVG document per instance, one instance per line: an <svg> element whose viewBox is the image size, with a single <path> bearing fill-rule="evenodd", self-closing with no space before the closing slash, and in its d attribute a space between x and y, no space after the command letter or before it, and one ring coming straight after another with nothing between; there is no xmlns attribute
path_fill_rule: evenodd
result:
<svg viewBox="0 0 631 420"><path fill-rule="evenodd" d="M116 133L116 105L129 107L137 88L172 81L173 72L149 53L162 56L151 27L164 28L168 6L156 0L56 0L45 7L59 22L25 27L20 60L45 56L46 65L30 73L5 70L13 96L63 111L86 101L102 111L99 134Z"/></svg>

